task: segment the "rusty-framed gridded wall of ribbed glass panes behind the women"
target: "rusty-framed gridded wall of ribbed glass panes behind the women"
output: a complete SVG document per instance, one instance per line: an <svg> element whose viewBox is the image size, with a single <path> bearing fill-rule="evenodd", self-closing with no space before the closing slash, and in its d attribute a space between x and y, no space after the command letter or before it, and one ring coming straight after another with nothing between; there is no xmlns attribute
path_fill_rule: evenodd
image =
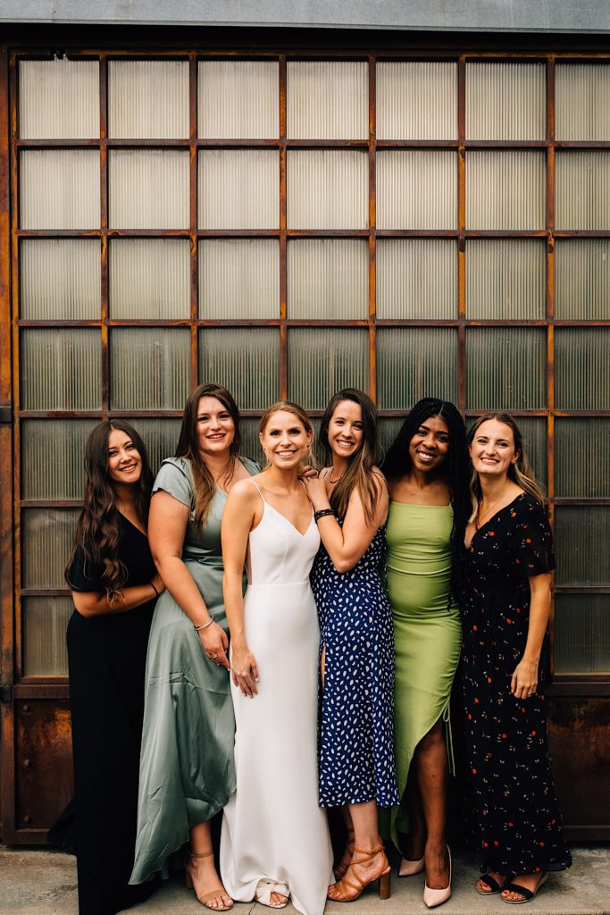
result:
<svg viewBox="0 0 610 915"><path fill-rule="evenodd" d="M198 381L259 457L278 396L519 416L548 492L558 677L610 671L610 64L16 55L19 664L66 673L91 426L155 465Z"/></svg>

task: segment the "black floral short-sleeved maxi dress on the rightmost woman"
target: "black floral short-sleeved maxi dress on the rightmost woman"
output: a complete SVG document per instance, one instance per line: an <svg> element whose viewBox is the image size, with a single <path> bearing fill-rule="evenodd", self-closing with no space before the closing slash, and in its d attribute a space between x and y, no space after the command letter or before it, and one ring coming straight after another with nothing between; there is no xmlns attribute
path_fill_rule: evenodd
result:
<svg viewBox="0 0 610 915"><path fill-rule="evenodd" d="M532 874L570 867L547 750L549 634L536 694L510 681L530 621L530 576L555 567L545 511L528 493L463 547L462 710L469 771L467 819L482 870Z"/></svg>

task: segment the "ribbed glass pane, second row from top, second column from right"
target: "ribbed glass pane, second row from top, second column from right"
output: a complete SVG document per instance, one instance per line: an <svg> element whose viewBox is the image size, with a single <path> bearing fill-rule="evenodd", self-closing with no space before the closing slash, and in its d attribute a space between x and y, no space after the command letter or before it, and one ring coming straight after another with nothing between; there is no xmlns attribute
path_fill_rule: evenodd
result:
<svg viewBox="0 0 610 915"><path fill-rule="evenodd" d="M470 150L466 153L466 228L537 230L545 224L544 153Z"/></svg>

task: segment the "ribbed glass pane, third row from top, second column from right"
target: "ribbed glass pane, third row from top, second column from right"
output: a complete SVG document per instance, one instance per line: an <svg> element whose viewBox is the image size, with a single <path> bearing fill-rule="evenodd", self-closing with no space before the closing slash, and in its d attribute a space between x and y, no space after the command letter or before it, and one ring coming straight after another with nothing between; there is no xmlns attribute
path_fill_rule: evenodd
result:
<svg viewBox="0 0 610 915"><path fill-rule="evenodd" d="M544 318L545 285L543 240L466 241L467 318Z"/></svg>

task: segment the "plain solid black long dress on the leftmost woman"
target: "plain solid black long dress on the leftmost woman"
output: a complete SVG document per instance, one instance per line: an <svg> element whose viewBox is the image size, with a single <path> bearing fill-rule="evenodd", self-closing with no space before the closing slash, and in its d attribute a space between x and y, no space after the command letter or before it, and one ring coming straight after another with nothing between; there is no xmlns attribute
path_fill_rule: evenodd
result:
<svg viewBox="0 0 610 915"><path fill-rule="evenodd" d="M155 575L148 539L119 514L124 587ZM81 547L67 572L73 591L103 593L102 569ZM152 594L151 588L151 594ZM80 915L110 915L144 899L130 887L134 863L146 645L155 599L125 613L68 624Z"/></svg>

